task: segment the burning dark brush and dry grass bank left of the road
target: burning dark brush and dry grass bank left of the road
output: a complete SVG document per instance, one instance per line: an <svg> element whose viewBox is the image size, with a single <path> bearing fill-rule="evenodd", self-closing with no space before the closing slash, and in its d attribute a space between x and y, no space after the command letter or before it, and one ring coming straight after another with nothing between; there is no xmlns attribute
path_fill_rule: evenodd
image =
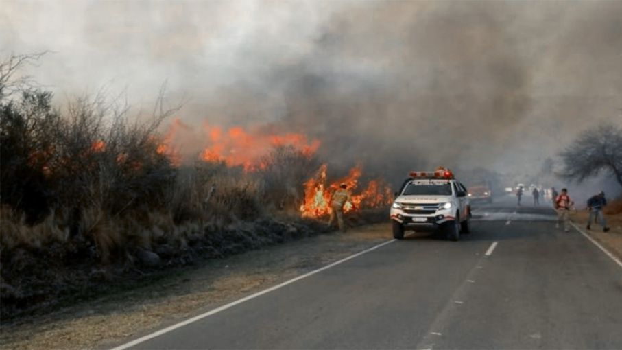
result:
<svg viewBox="0 0 622 350"><path fill-rule="evenodd" d="M173 119L158 132L176 112L161 96L154 115L136 120L101 95L63 110L38 89L0 97L3 317L324 231L310 219L328 213L342 182L353 192L348 212L391 200L380 180L363 185L360 166L329 181L320 143L298 133L204 126L208 145L184 160L174 139L191 128Z"/></svg>

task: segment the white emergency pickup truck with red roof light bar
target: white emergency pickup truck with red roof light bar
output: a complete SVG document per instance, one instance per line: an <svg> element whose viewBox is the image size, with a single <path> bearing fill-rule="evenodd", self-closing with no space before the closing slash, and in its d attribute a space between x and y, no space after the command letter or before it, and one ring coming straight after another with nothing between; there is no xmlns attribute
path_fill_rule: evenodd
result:
<svg viewBox="0 0 622 350"><path fill-rule="evenodd" d="M470 204L466 187L450 170L411 172L396 193L391 207L393 237L404 238L404 231L444 231L457 241L469 233Z"/></svg>

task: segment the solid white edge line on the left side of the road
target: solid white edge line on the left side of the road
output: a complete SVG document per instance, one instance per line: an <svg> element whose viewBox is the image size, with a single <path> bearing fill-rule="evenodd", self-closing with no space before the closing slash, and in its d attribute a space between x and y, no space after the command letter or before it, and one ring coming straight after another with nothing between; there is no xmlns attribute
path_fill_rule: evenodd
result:
<svg viewBox="0 0 622 350"><path fill-rule="evenodd" d="M390 241L378 244L376 246L372 246L372 248L363 250L362 252L356 253L355 255L350 255L349 257L345 257L344 259L341 259L339 261L335 261L334 263L328 264L328 265L324 266L323 268L318 268L318 270L313 270L311 272L307 272L304 275L300 275L298 277L294 277L293 279L290 279L289 281L285 281L285 282L280 283L278 285L274 285L273 287L267 288L265 290L261 290L260 292L256 292L256 293L251 294L249 296L245 296L242 299L238 299L237 301L233 301L233 302L228 303L226 305L222 305L221 307L217 307L217 308L215 308L213 310L205 312L204 314L200 314L198 316L194 316L193 318L189 318L189 319L184 320L184 321L182 321L180 323L176 323L175 325L171 325L169 327L166 327L165 329L160 329L159 331L154 331L154 333L152 333L152 334L147 334L146 336L143 336L143 337L138 338L136 340L132 340L131 342L127 342L127 343L125 343L123 345L119 345L118 347L114 347L111 350L128 349L128 347L133 347L134 345L138 345L141 342L145 342L146 340L156 338L157 336L161 336L161 335L163 335L165 333L168 333L169 331L173 331L174 329L178 329L180 327L184 327L185 325L189 325L190 323L196 322L196 321L198 321L198 320L200 320L202 318L206 318L207 316L211 316L213 314L217 314L218 312L227 310L230 307L234 307L235 305L239 305L241 303L244 303L245 301L249 301L250 299L255 299L256 297L261 296L263 294L267 294L267 293L270 293L270 292L272 292L274 290L277 290L279 288L283 288L283 287L285 287L285 285L294 283L296 281L300 281L301 279L307 278L307 277L309 277L311 275L315 275L318 272L322 272L324 270L332 268L333 266L337 266L339 264L342 264L342 263L344 263L344 262L346 262L346 261L348 261L350 259L354 259L355 257L359 257L359 256L361 256L361 255L363 255L365 253L369 253L372 250L378 249L381 246L386 246L387 244L393 243L395 241L396 240L390 240Z"/></svg>

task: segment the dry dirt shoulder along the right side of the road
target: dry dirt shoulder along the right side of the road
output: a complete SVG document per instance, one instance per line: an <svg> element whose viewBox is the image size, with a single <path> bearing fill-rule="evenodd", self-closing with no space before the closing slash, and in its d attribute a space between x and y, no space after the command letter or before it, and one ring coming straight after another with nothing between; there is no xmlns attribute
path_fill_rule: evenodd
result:
<svg viewBox="0 0 622 350"><path fill-rule="evenodd" d="M591 230L588 231L586 229L588 215L587 210L579 210L571 214L571 220L585 233L605 246L612 254L622 259L622 214L605 215L607 225L611 229L609 232L603 232L600 224L592 224Z"/></svg>

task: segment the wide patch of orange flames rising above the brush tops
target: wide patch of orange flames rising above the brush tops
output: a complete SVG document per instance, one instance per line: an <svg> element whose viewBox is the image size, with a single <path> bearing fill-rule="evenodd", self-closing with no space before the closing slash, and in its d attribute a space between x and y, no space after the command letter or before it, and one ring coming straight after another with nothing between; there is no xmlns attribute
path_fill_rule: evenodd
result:
<svg viewBox="0 0 622 350"><path fill-rule="evenodd" d="M305 154L312 155L320 147L320 141L309 141L305 135L288 133L285 135L265 135L249 132L239 126L223 130L217 126L205 126L211 145L205 148L200 159L208 162L223 161L230 167L242 166L245 170L261 168L261 156L274 147L291 145Z"/></svg>

